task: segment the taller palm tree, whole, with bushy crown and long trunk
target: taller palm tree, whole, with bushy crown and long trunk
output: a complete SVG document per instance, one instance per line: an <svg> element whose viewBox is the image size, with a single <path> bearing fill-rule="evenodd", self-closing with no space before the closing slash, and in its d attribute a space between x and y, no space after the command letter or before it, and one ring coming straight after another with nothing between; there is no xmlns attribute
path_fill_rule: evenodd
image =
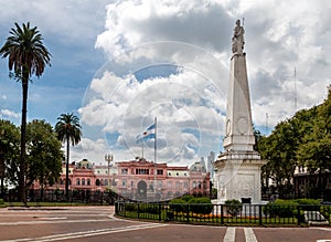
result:
<svg viewBox="0 0 331 242"><path fill-rule="evenodd" d="M36 27L30 28L30 23L22 28L14 23L10 36L0 50L2 57L8 57L9 71L14 71L14 77L22 83L22 123L21 123L21 154L20 154L20 200L26 203L25 196L25 129L26 129L26 103L28 86L33 74L40 77L46 65L51 65L51 54L43 45L43 38Z"/></svg>

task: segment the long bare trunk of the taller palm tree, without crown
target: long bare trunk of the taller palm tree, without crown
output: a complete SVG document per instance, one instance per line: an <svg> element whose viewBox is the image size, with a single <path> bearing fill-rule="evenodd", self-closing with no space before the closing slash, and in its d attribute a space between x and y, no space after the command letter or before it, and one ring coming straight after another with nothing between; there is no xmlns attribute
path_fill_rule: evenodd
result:
<svg viewBox="0 0 331 242"><path fill-rule="evenodd" d="M26 76L28 75L28 76ZM25 196L25 137L26 137L26 103L28 103L29 73L23 72L22 77L22 124L21 124L21 164L19 175L20 200L26 204Z"/></svg>

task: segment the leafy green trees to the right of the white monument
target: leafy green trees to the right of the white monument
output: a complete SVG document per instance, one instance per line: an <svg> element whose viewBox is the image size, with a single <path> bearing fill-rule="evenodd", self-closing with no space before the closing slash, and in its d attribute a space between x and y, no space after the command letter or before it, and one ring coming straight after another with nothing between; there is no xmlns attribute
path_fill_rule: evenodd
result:
<svg viewBox="0 0 331 242"><path fill-rule="evenodd" d="M302 109L276 125L271 135L260 137L257 146L263 159L264 186L274 180L279 193L292 190L296 167L308 172L331 170L331 88L324 102Z"/></svg>

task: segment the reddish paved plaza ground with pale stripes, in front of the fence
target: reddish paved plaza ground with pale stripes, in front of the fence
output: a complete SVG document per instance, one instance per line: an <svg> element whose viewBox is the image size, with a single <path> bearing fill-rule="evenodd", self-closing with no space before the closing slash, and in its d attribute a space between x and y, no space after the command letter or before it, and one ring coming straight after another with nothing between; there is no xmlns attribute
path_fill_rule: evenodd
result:
<svg viewBox="0 0 331 242"><path fill-rule="evenodd" d="M331 242L331 228L151 223L113 217L114 207L0 209L0 241Z"/></svg>

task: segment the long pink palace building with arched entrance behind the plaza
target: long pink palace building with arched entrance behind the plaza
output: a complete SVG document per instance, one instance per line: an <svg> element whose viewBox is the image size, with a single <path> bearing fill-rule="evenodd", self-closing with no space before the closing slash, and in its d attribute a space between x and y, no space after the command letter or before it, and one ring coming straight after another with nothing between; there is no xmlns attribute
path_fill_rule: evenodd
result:
<svg viewBox="0 0 331 242"><path fill-rule="evenodd" d="M168 166L146 159L94 165L87 159L70 165L70 190L113 190L125 198L141 201L170 200L184 193L210 194L210 175L195 162ZM58 182L47 189L65 188L65 165ZM39 185L34 185L39 189Z"/></svg>

